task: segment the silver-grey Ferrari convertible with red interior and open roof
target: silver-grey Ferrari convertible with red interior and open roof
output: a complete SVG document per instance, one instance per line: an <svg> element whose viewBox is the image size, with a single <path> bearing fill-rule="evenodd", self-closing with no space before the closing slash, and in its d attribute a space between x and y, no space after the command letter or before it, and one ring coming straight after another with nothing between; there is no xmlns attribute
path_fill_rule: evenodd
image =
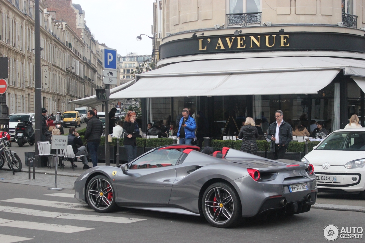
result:
<svg viewBox="0 0 365 243"><path fill-rule="evenodd" d="M308 212L317 196L313 166L233 148L154 148L120 167L96 166L75 181L75 197L97 212L119 207L204 215L215 227L242 218Z"/></svg>

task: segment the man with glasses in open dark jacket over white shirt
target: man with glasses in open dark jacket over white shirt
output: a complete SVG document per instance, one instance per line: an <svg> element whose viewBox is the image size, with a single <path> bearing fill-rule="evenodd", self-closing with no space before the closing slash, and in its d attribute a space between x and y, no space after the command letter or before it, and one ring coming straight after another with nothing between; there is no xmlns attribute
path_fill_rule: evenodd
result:
<svg viewBox="0 0 365 243"><path fill-rule="evenodd" d="M292 126L283 120L283 112L275 112L276 122L269 126L267 138L271 140L270 149L275 159L283 159L289 142L293 139Z"/></svg>

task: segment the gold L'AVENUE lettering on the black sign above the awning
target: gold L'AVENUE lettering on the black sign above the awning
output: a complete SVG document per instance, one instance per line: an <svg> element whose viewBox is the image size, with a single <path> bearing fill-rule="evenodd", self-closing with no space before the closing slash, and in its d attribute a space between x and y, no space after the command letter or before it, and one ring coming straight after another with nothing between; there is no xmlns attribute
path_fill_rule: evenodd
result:
<svg viewBox="0 0 365 243"><path fill-rule="evenodd" d="M213 43L216 43L215 50L222 50L222 49L233 49L234 50L234 49L246 48L246 43L248 41L250 42L249 43L250 48L255 48L255 49L257 49L257 48L266 49L268 47L274 47L274 46L279 47L279 43L280 43L280 47L289 46L289 35L279 35L280 42L278 39L275 41L276 38L279 38L279 37L276 37L277 35L264 35L264 36L265 36L265 40L262 40L262 42L264 42L264 43L260 43L261 35L221 37L221 38L218 38L218 41L216 39L215 40L212 39L212 40L214 40ZM249 37L249 39L247 39L247 42L246 42L246 37ZM224 39L226 39L226 41L224 41ZM211 46L211 45L214 45L213 43L209 44L211 42L210 38L198 39L198 41L199 41L199 49L198 49L199 51L206 51L206 50L209 50L209 48L214 47L214 46ZM217 41L217 42L215 42L215 41ZM236 47L236 41L237 41L237 47Z"/></svg>

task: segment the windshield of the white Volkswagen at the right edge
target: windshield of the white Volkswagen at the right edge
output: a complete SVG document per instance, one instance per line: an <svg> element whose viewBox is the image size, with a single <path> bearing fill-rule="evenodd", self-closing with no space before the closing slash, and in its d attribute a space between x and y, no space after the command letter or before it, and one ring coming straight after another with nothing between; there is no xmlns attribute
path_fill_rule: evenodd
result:
<svg viewBox="0 0 365 243"><path fill-rule="evenodd" d="M365 151L365 131L333 132L316 150Z"/></svg>

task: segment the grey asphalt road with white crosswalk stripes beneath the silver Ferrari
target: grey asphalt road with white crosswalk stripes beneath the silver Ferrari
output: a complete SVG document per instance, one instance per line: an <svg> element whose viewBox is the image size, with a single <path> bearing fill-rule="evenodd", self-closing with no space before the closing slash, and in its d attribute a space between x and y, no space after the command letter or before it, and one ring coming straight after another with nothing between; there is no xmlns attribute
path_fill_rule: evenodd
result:
<svg viewBox="0 0 365 243"><path fill-rule="evenodd" d="M210 226L203 217L173 213L128 208L120 208L114 213L96 213L88 207L69 204L79 203L72 198L73 190L57 192L42 186L7 183L1 183L0 190L0 234L5 235L0 235L0 239L8 239L1 242L29 238L23 242L321 243L327 242L323 228L328 224L335 224L340 229L365 228L364 213L311 209L281 219L247 219L236 228L220 229ZM51 193L65 193L59 195L69 197L45 196ZM105 218L110 216L116 218ZM116 222L111 223L111 220ZM339 238L335 242L364 242L364 239Z"/></svg>

